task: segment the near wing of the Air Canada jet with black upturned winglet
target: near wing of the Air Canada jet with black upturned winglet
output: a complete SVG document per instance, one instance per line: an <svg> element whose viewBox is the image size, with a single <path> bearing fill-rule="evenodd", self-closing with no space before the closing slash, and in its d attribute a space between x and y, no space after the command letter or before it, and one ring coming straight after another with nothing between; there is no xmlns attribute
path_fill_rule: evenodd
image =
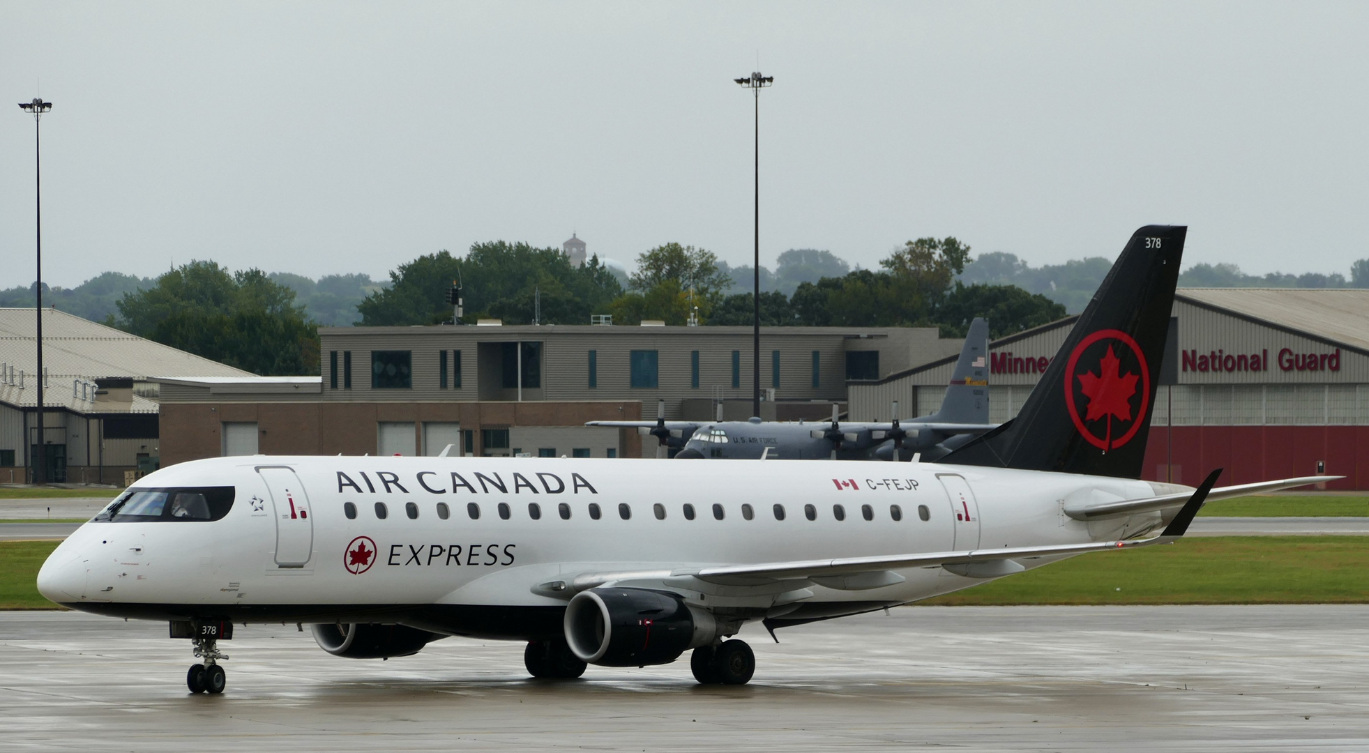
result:
<svg viewBox="0 0 1369 753"><path fill-rule="evenodd" d="M570 583L543 583L538 593L546 596L560 596L570 598L578 591L604 586L608 583L623 583L631 580L657 580L667 586L674 583L684 585L689 579L698 579L709 583L726 586L769 586L776 582L790 582L786 587L802 587L798 582L812 582L821 586L864 590L882 586L891 586L902 582L891 570L913 567L946 567L951 572L971 578L998 578L1012 575L1025 570L1014 559L1053 557L1068 554L1083 554L1086 552L1110 552L1114 549L1135 549L1151 544L1168 544L1184 535L1188 524L1192 523L1198 509L1202 508L1207 493L1217 482L1221 471L1213 471L1207 479L1188 496L1183 509L1175 515L1165 530L1151 538L1129 541L1103 541L1091 544L1062 544L1050 546L1005 546L1002 549L968 549L960 552L923 552L916 554L888 554L873 557L839 557L826 560L798 560L786 563L760 563L743 565L713 565L701 568L678 568L671 571L648 572L596 572L582 574ZM1324 476L1322 476L1324 478Z"/></svg>

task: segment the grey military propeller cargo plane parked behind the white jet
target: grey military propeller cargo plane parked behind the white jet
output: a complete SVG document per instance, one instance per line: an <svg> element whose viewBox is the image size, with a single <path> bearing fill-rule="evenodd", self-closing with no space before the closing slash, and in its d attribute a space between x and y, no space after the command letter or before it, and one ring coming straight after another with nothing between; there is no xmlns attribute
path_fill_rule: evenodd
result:
<svg viewBox="0 0 1369 753"><path fill-rule="evenodd" d="M719 407L721 408L721 407ZM935 413L891 422L846 422L832 405L830 422L665 420L664 401L656 420L591 420L586 426L635 427L658 439L656 456L726 460L935 460L994 429L988 423L988 322L969 324L946 397Z"/></svg>

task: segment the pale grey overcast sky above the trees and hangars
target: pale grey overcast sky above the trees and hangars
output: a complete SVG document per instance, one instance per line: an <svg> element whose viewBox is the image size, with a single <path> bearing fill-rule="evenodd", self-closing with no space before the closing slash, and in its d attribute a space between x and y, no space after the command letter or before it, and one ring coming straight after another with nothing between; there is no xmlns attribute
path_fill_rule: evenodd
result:
<svg viewBox="0 0 1369 753"><path fill-rule="evenodd" d="M319 277L579 233L875 266L1034 264L1190 226L1186 267L1369 256L1365 3L18 3L44 281L214 259ZM0 111L0 286L33 281L33 119Z"/></svg>

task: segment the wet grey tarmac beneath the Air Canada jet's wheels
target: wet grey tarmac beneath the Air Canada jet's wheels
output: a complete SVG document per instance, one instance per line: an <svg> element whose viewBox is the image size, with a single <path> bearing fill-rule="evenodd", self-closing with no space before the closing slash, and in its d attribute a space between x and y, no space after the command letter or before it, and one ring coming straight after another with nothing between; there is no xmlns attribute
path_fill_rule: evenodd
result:
<svg viewBox="0 0 1369 753"><path fill-rule="evenodd" d="M749 686L687 661L530 680L517 643L353 661L294 626L190 695L159 623L0 613L0 749L1366 750L1369 605L913 607L749 627Z"/></svg>

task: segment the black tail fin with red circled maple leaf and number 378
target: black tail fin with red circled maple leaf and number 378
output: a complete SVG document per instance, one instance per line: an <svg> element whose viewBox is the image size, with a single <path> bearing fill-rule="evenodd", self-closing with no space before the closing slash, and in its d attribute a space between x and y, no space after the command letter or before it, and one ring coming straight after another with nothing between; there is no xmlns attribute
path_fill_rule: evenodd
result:
<svg viewBox="0 0 1369 753"><path fill-rule="evenodd" d="M1136 230L1017 418L938 461L1140 478L1187 231Z"/></svg>

